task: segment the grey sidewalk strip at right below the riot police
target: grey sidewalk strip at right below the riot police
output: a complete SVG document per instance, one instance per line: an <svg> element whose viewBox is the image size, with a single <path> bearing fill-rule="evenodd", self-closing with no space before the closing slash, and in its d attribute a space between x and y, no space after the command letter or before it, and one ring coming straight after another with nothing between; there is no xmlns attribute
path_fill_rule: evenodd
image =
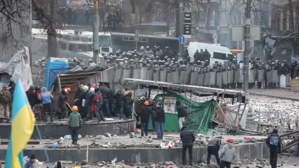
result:
<svg viewBox="0 0 299 168"><path fill-rule="evenodd" d="M242 89L237 89L242 90ZM276 89L258 89L258 88L251 88L248 89L248 92L251 94L261 95L261 96L269 96L269 97L277 97L282 99L290 99L294 101L299 101L299 92L296 91L289 91L283 88L276 88Z"/></svg>

